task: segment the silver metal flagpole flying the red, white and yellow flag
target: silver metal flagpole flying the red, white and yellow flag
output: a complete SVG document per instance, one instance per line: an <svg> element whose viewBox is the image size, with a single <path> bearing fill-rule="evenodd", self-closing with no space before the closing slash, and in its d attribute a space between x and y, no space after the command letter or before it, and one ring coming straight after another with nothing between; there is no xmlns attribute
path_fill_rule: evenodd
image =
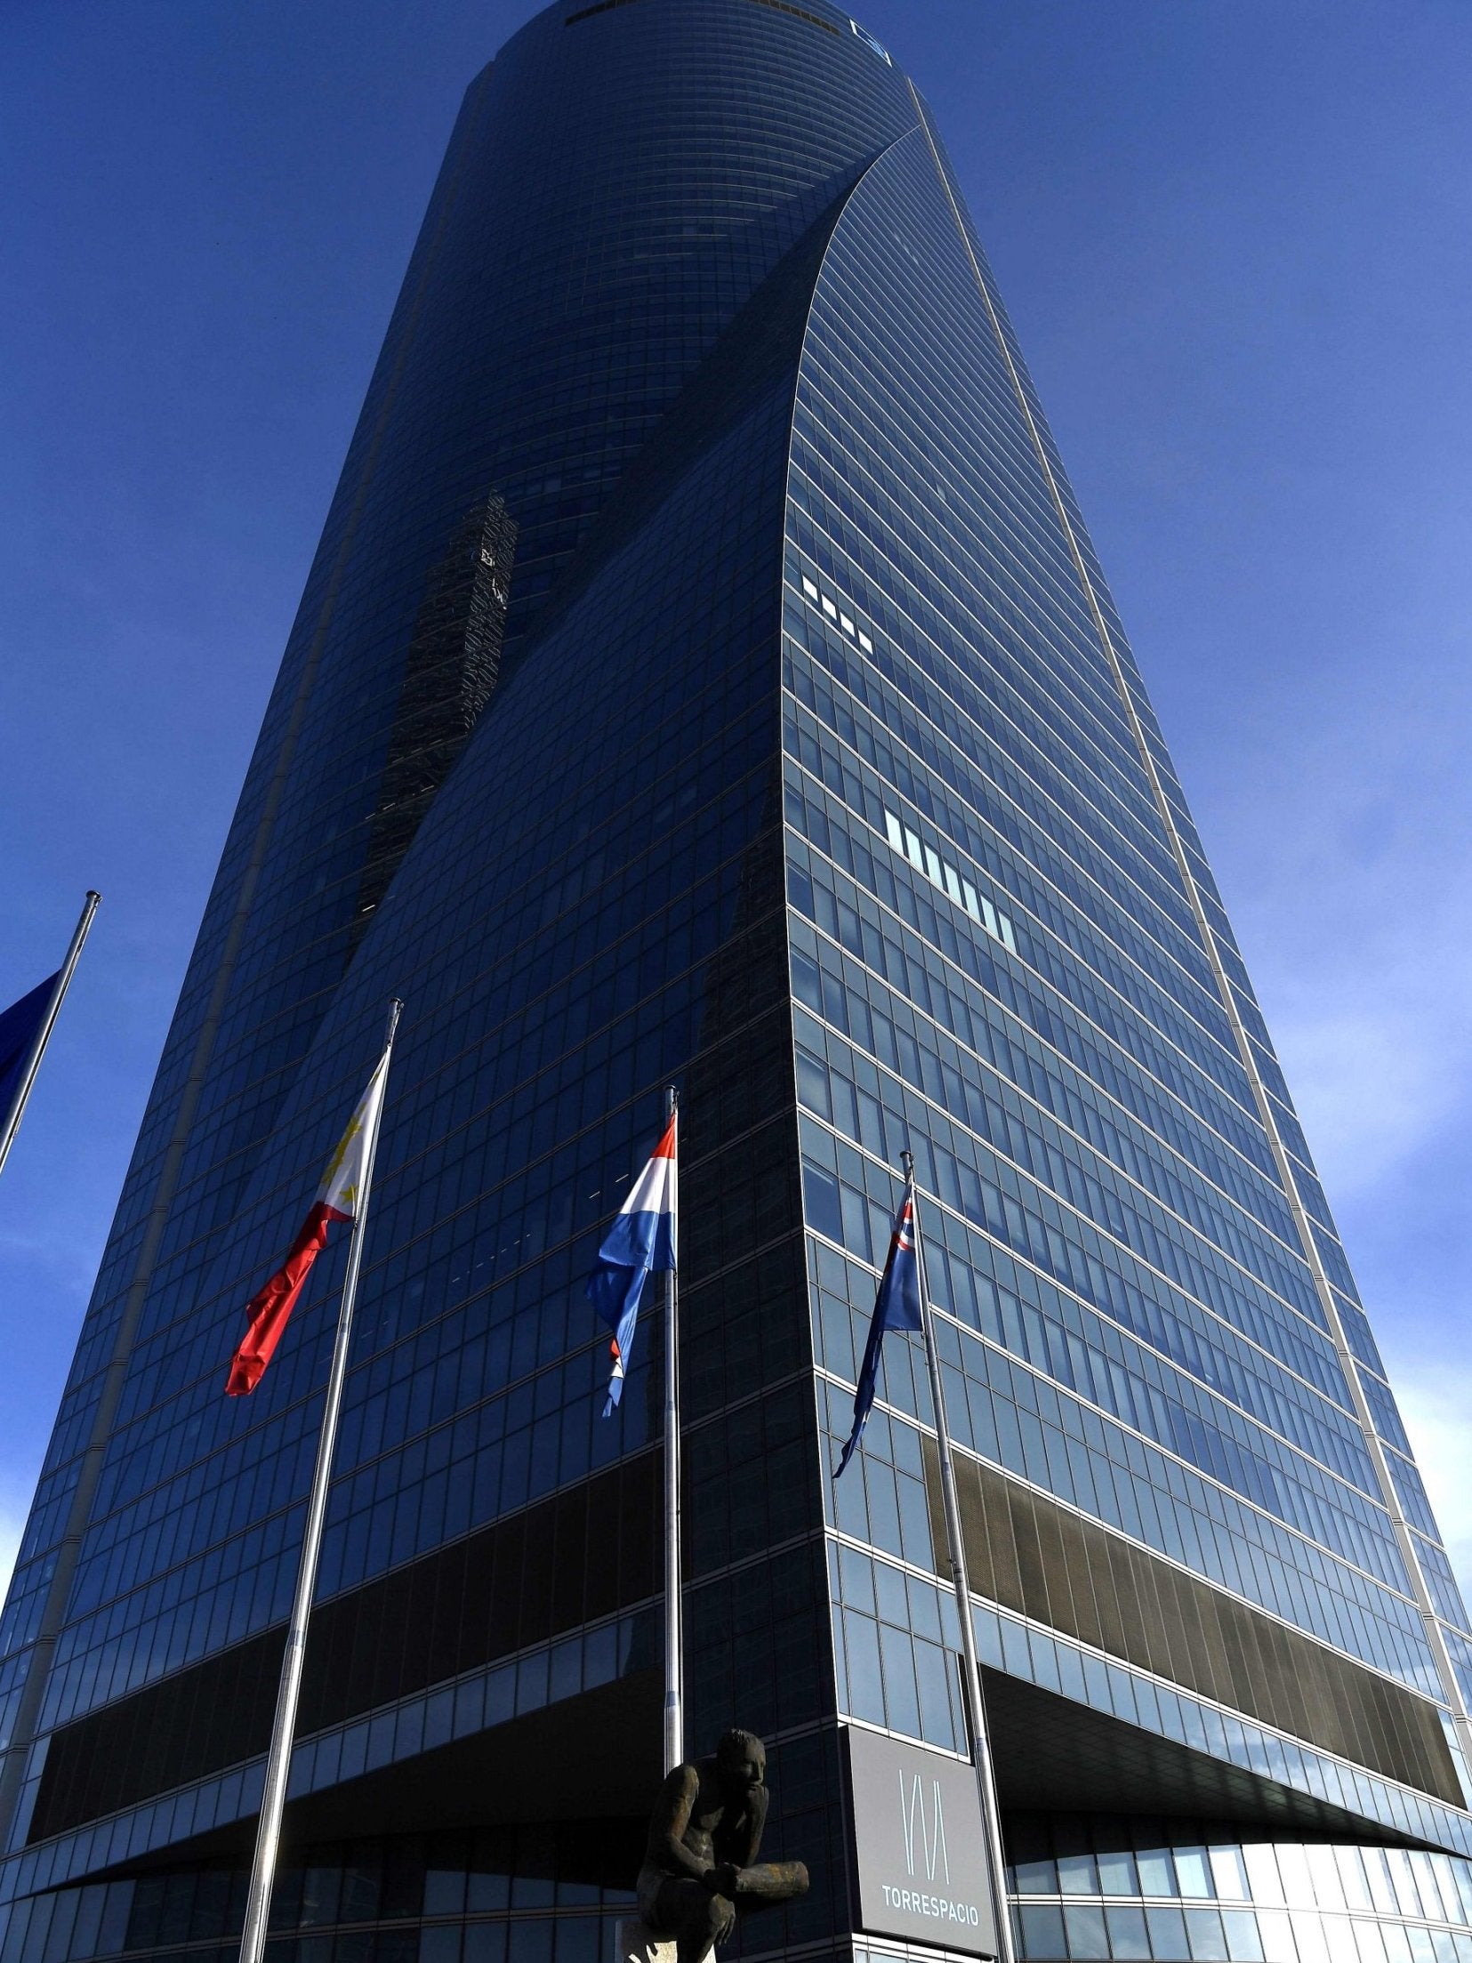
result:
<svg viewBox="0 0 1472 1963"><path fill-rule="evenodd" d="M394 1031L404 1005L394 997L389 1005L389 1029L383 1036L383 1056L379 1068L389 1076L389 1060L394 1046ZM338 1413L342 1409L342 1388L347 1378L347 1349L353 1333L353 1307L357 1303L357 1272L363 1264L363 1235L367 1231L369 1188L373 1186L373 1160L379 1150L379 1125L383 1121L383 1095L373 1111L373 1129L363 1148L363 1192L353 1209L353 1235L347 1243L347 1274L342 1284L342 1307L338 1309L338 1337L332 1345L332 1370L328 1372L328 1400L322 1411L322 1431L316 1445L316 1466L312 1470L312 1492L306 1502L306 1527L302 1531L302 1557L296 1568L296 1596L290 1606L290 1625L287 1629L287 1653L281 1659L281 1686L277 1690L277 1716L271 1725L271 1751L265 1761L265 1784L261 1788L261 1818L255 1828L255 1865L251 1867L251 1892L245 1898L245 1928L239 1937L239 1963L261 1963L265 1955L265 1932L271 1920L271 1884L277 1875L277 1849L281 1845L281 1814L287 1804L287 1778L290 1775L290 1749L296 1733L296 1700L302 1688L302 1663L306 1657L306 1623L312 1616L312 1594L316 1590L316 1563L322 1551L322 1525L328 1517L328 1486L332 1482L332 1451L338 1441Z"/></svg>

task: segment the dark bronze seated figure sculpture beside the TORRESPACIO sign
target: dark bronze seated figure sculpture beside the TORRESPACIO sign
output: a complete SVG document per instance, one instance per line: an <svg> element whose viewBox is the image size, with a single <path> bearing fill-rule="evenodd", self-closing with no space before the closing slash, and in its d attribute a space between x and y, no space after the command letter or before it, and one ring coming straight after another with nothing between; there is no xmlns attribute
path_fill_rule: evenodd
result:
<svg viewBox="0 0 1472 1963"><path fill-rule="evenodd" d="M679 1963L701 1963L738 1914L807 1894L801 1861L758 1865L765 1773L762 1739L726 1731L712 1757L677 1765L659 1788L638 1902L652 1936L673 1936Z"/></svg>

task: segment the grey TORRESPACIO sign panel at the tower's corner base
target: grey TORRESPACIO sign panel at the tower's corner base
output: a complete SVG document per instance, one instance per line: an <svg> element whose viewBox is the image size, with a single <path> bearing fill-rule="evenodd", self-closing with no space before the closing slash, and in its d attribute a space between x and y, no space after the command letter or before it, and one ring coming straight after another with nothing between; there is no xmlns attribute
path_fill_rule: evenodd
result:
<svg viewBox="0 0 1472 1963"><path fill-rule="evenodd" d="M844 1739L860 1926L871 1936L995 1957L975 1769L852 1725Z"/></svg>

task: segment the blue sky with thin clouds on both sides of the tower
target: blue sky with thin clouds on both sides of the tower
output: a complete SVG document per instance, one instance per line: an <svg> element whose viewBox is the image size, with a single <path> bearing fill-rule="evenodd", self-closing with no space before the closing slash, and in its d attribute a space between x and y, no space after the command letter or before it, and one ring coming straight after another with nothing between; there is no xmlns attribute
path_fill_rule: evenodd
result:
<svg viewBox="0 0 1472 1963"><path fill-rule="evenodd" d="M6 8L0 1001L104 907L0 1184L0 1576L455 104L530 12ZM1472 1580L1472 10L862 18L938 112Z"/></svg>

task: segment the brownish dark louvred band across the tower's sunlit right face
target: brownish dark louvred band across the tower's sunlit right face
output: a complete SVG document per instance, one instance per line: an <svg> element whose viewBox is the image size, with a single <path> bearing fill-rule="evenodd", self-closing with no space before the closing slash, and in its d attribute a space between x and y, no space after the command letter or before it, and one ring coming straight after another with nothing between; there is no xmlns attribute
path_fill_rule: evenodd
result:
<svg viewBox="0 0 1472 1963"><path fill-rule="evenodd" d="M922 1443L934 1565L946 1572L940 1462L934 1441ZM1460 1808L1456 1769L1429 1700L991 1466L958 1457L956 1486L975 1594Z"/></svg>

